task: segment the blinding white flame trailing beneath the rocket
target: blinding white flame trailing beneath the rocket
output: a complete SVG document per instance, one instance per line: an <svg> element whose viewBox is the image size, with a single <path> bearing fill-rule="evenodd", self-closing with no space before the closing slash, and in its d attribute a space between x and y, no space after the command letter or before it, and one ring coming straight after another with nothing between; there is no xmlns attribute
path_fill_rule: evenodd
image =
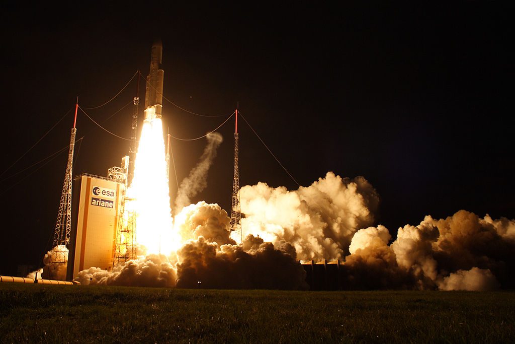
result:
<svg viewBox="0 0 515 344"><path fill-rule="evenodd" d="M133 199L126 203L127 210L136 214L136 242L146 247L146 253L169 255L177 250L181 239L171 219L161 118L150 117L143 122L127 196Z"/></svg>

